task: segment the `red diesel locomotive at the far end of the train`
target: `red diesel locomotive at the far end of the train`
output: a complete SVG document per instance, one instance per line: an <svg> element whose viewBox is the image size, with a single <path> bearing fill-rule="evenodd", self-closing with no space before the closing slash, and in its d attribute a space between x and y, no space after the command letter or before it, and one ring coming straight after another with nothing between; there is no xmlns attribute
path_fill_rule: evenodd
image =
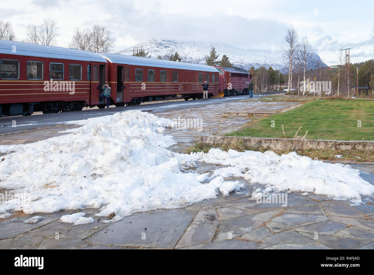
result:
<svg viewBox="0 0 374 275"><path fill-rule="evenodd" d="M219 89L224 96L248 94L248 85L252 76L248 71L240 68L214 66L220 73Z"/></svg>

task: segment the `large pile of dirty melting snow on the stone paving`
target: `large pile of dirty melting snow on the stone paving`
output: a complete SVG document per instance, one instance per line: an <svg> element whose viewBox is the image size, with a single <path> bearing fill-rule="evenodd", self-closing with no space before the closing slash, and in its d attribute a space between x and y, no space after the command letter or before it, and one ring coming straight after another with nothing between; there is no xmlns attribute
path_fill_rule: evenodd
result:
<svg viewBox="0 0 374 275"><path fill-rule="evenodd" d="M138 110L70 123L84 126L36 143L0 146L0 152L6 153L0 162L0 188L15 189L15 199L1 203L0 213L100 208L99 216L114 212L117 220L137 211L178 208L220 193L229 196L244 187L239 181L224 181L231 175L263 184L267 190L358 201L374 194L374 186L360 178L359 170L296 153L278 156L271 151L220 149L174 153L168 150L174 140L163 132L176 123ZM229 167L213 174L185 171L197 162ZM28 194L28 199L17 199L19 193ZM72 223L86 219L63 218Z"/></svg>

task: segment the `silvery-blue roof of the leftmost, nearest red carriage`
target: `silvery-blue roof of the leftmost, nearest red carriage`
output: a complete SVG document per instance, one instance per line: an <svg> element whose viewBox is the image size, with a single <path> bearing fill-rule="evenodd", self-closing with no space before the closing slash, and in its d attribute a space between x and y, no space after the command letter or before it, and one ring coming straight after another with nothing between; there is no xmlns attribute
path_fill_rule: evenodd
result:
<svg viewBox="0 0 374 275"><path fill-rule="evenodd" d="M8 40L0 40L0 54L14 54L105 63L107 62L104 58L102 58L101 55L93 52Z"/></svg>

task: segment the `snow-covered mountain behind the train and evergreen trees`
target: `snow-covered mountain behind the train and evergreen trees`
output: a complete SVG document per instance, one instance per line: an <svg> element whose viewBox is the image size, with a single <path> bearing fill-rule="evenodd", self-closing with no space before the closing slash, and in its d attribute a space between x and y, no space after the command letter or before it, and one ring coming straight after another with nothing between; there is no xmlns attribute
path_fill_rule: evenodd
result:
<svg viewBox="0 0 374 275"><path fill-rule="evenodd" d="M232 46L209 43L209 42L186 42L165 39L152 39L147 42L141 42L133 47L119 51L118 54L132 55L133 48L135 51L140 47L147 52L152 58L157 58L158 55L165 57L170 54L178 52L183 62L205 64L205 55L209 55L211 48L215 47L218 59L220 60L223 55L229 57L230 62L235 67L240 67L248 70L251 66L255 68L261 65L265 68L272 66L275 70L287 70L287 62L283 58L283 52L275 49L239 49ZM321 61L317 55L313 55L313 64L315 61ZM321 61L322 62L322 61ZM326 64L324 64L326 65Z"/></svg>

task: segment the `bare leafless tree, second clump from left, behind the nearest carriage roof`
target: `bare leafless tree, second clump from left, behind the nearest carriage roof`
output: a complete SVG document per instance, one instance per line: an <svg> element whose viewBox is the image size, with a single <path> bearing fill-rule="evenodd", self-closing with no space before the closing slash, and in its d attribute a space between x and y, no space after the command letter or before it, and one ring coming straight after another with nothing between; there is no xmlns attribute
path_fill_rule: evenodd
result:
<svg viewBox="0 0 374 275"><path fill-rule="evenodd" d="M26 41L29 43L55 46L57 32L57 22L55 19L46 18L42 25L28 24L26 28Z"/></svg>

